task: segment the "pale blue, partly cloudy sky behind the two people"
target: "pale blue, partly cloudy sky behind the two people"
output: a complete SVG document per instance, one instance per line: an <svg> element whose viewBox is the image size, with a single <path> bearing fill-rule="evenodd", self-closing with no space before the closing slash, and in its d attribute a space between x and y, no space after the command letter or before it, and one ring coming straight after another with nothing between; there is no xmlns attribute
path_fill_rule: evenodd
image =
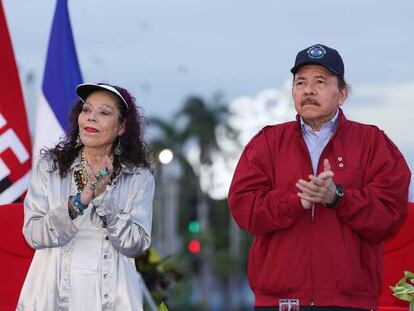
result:
<svg viewBox="0 0 414 311"><path fill-rule="evenodd" d="M32 120L55 1L3 6ZM334 47L345 113L384 129L414 168L412 0L70 0L69 12L85 82L124 86L146 116L171 120L188 95L231 105L284 89L299 50Z"/></svg>

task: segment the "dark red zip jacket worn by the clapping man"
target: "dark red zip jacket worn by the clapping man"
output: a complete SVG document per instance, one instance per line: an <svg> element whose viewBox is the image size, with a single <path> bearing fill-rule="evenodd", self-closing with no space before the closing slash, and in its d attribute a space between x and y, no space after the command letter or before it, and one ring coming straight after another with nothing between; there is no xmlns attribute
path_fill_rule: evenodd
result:
<svg viewBox="0 0 414 311"><path fill-rule="evenodd" d="M313 174L299 119L263 128L239 160L228 202L238 225L255 236L248 278L256 306L298 298L304 306L376 308L382 242L407 213L411 173L382 131L342 111L318 173L324 158L345 195L333 209L315 204L313 219L295 186Z"/></svg>

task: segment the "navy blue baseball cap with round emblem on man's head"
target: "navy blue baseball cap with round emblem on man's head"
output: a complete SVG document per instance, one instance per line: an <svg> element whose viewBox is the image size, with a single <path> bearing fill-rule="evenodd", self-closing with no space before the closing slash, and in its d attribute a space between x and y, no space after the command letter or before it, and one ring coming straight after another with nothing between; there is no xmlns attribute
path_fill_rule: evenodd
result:
<svg viewBox="0 0 414 311"><path fill-rule="evenodd" d="M300 51L290 72L295 74L300 67L311 64L321 65L339 76L343 76L345 72L344 62L338 51L322 44L315 44Z"/></svg>

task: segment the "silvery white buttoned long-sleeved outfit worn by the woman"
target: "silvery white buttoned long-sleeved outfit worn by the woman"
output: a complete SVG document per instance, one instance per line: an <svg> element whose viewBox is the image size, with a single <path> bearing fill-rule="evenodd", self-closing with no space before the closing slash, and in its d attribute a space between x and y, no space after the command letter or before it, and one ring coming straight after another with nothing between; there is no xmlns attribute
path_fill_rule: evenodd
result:
<svg viewBox="0 0 414 311"><path fill-rule="evenodd" d="M67 206L78 190L76 159L65 177L43 157L24 202L23 234L36 249L17 310L143 310L133 257L150 245L154 177L122 165L106 191L73 221ZM106 215L107 227L99 217Z"/></svg>

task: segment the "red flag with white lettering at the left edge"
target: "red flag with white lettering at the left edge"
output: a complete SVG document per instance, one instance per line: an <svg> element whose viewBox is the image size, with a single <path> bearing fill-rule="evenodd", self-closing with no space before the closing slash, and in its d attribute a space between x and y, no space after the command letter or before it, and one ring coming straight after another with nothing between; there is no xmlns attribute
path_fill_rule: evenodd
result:
<svg viewBox="0 0 414 311"><path fill-rule="evenodd" d="M16 61L0 1L0 204L19 201L30 179L31 143Z"/></svg>

